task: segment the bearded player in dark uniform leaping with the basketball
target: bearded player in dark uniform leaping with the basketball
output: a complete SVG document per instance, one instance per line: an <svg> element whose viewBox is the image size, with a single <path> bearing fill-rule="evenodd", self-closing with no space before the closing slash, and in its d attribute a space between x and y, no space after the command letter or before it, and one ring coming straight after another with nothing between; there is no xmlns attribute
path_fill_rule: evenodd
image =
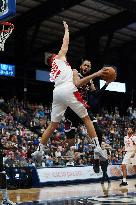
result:
<svg viewBox="0 0 136 205"><path fill-rule="evenodd" d="M91 71L91 62L89 60L82 61L81 65L80 65L79 77L84 78L86 76L89 76L90 71ZM94 106L91 104L91 102L89 102L89 101L91 101L89 99L89 95L94 94L94 98L97 101L98 98L103 94L103 92L105 91L105 89L107 88L109 83L110 82L106 82L105 85L99 90L96 90L94 83L93 83L93 80L90 80L89 83L87 83L86 85L83 85L82 87L78 87L78 90L79 90L81 96L83 97L84 101L86 102L86 105L87 105L86 108L88 111L88 115L93 122L93 125L95 127L100 145L102 143L102 129L99 127L99 125L97 123L97 119L94 117L94 115L92 113L92 111L94 110ZM65 117L66 117L66 119L71 120L72 125L74 125L75 127L77 126L77 124L82 123L81 120L78 118L78 116L75 113L73 113L73 111L71 109L67 110ZM95 156L95 158L97 158L97 157ZM96 173L99 172L99 157L98 157L98 159L94 160L93 168L94 168L94 171Z"/></svg>

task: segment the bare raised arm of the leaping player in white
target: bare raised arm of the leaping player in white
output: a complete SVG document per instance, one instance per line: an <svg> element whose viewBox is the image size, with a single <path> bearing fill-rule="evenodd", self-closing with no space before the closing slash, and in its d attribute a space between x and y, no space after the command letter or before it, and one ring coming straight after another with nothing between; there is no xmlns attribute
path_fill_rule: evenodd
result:
<svg viewBox="0 0 136 205"><path fill-rule="evenodd" d="M69 45L69 29L68 29L68 25L67 25L66 21L63 21L63 25L65 28L65 33L64 33L63 43L62 43L61 49L58 53L58 58L62 59L62 60L66 57L66 54L68 51L68 45Z"/></svg>

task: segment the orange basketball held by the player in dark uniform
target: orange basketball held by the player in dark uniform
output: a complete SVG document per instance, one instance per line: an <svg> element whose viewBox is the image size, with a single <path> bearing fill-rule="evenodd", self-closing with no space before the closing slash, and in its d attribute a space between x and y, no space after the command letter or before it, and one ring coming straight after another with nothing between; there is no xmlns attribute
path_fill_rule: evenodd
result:
<svg viewBox="0 0 136 205"><path fill-rule="evenodd" d="M114 81L116 79L117 73L114 68L106 67L106 72L101 76L105 81Z"/></svg>

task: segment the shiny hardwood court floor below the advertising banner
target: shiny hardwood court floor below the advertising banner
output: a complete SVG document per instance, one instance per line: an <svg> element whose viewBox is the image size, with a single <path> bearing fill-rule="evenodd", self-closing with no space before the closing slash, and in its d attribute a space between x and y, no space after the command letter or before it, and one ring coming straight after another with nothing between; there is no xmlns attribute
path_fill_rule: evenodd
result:
<svg viewBox="0 0 136 205"><path fill-rule="evenodd" d="M9 196L21 205L136 204L136 179L129 179L126 187L119 187L120 182L10 190Z"/></svg>

